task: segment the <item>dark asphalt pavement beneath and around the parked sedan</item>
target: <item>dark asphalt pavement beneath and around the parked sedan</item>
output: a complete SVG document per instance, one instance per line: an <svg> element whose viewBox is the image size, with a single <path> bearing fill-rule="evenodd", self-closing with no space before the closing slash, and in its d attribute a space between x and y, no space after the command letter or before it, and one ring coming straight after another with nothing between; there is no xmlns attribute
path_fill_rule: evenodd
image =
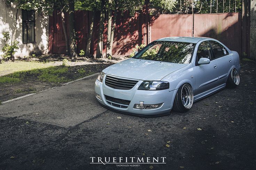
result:
<svg viewBox="0 0 256 170"><path fill-rule="evenodd" d="M236 89L156 118L102 108L96 76L2 104L0 169L255 169L255 70L243 64ZM119 167L90 157L166 162Z"/></svg>

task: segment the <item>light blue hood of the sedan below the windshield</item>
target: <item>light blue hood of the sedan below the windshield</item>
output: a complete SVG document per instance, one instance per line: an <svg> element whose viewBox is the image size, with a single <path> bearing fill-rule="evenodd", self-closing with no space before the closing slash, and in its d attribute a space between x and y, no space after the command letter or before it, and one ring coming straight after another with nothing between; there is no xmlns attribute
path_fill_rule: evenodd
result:
<svg viewBox="0 0 256 170"><path fill-rule="evenodd" d="M186 65L130 58L105 68L103 73L139 80L161 80Z"/></svg>

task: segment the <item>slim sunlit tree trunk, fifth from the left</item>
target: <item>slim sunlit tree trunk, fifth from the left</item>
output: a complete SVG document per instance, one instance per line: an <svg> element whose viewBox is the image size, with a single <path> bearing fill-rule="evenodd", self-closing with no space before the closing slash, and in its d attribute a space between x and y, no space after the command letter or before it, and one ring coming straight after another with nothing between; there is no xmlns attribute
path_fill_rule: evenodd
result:
<svg viewBox="0 0 256 170"><path fill-rule="evenodd" d="M112 0L109 0L109 9L107 10L107 58L112 57L112 50L111 50L111 33L112 33Z"/></svg>

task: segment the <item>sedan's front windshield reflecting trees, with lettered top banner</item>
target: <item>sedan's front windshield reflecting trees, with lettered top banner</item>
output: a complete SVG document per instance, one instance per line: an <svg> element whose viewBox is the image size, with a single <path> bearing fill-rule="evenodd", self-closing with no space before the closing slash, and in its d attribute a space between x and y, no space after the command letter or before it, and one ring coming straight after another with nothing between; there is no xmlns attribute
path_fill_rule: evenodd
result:
<svg viewBox="0 0 256 170"><path fill-rule="evenodd" d="M133 58L187 64L191 61L193 48L193 43L155 41Z"/></svg>

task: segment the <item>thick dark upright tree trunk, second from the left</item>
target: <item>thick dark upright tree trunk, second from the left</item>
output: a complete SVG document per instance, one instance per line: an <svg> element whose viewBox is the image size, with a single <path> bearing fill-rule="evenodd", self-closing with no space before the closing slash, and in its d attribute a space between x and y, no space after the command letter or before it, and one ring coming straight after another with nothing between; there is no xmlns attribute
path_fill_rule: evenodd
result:
<svg viewBox="0 0 256 170"><path fill-rule="evenodd" d="M77 57L77 44L75 41L75 6L74 0L69 0L69 46L71 60Z"/></svg>

